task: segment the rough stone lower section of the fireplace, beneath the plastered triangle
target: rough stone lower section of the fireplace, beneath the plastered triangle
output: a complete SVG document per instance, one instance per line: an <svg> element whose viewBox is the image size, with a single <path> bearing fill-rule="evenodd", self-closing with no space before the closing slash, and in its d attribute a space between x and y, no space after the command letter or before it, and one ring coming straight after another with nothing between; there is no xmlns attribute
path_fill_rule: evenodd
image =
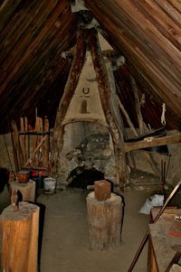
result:
<svg viewBox="0 0 181 272"><path fill-rule="evenodd" d="M59 183L71 182L69 174L78 166L95 168L106 179L115 181L115 158L107 127L93 122L75 122L66 125L64 145L59 167Z"/></svg>

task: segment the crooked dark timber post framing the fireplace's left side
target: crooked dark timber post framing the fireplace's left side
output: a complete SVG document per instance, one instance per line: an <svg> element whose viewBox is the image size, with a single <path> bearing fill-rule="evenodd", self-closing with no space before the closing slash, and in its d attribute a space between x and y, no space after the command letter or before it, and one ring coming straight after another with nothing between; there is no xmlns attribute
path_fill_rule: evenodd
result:
<svg viewBox="0 0 181 272"><path fill-rule="evenodd" d="M59 164L59 154L62 151L63 145L63 133L64 126L62 121L67 113L71 98L73 97L74 91L80 79L81 69L85 61L86 54L86 39L88 35L87 29L80 29L77 34L77 43L75 48L75 56L71 66L71 71L67 84L64 89L62 99L57 110L57 116L55 119L53 137L52 137L52 176L57 176L57 169Z"/></svg>

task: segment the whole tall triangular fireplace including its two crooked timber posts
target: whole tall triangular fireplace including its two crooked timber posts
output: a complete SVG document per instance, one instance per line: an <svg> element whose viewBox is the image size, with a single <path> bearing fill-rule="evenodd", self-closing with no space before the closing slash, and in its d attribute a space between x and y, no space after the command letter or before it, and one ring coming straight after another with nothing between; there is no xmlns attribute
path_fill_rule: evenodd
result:
<svg viewBox="0 0 181 272"><path fill-rule="evenodd" d="M83 29L55 120L52 174L58 186L82 166L97 169L112 183L124 182L121 125L111 61L101 54L95 29Z"/></svg>

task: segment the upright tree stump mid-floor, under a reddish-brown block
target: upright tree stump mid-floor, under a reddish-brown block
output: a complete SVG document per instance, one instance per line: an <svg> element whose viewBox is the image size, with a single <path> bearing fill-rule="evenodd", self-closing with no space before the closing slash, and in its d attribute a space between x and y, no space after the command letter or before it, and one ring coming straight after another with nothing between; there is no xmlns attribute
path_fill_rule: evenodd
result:
<svg viewBox="0 0 181 272"><path fill-rule="evenodd" d="M98 201L94 192L86 198L90 249L110 249L119 246L121 240L122 200L115 193L110 199Z"/></svg>

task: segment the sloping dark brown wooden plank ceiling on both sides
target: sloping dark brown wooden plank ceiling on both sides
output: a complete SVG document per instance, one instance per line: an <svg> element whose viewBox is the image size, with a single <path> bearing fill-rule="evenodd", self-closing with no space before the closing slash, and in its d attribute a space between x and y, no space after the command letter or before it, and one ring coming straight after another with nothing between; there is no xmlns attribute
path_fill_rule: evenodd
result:
<svg viewBox="0 0 181 272"><path fill-rule="evenodd" d="M35 108L53 124L71 69L72 55L64 58L65 52L74 46L80 24L86 23L85 14L71 13L76 2L0 2L0 133L9 130L10 118L33 120ZM161 126L164 102L167 129L180 129L181 2L84 0L84 5L100 24L100 33L126 59L115 79L133 122L129 74L137 81L140 97L145 94L145 122Z"/></svg>

